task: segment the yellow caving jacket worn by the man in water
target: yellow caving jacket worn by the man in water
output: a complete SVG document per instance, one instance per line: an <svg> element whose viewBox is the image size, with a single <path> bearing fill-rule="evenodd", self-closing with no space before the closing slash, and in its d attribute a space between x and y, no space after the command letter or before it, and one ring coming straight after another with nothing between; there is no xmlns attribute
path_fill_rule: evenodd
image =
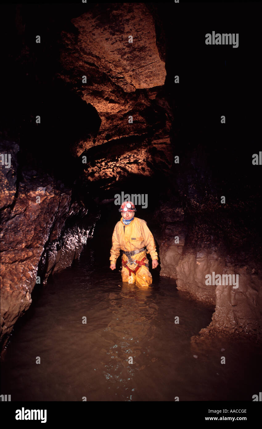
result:
<svg viewBox="0 0 262 429"><path fill-rule="evenodd" d="M146 225L146 221L134 218L129 225L124 225L123 218L121 218L114 228L110 262L112 264L116 263L120 255L120 249L130 252L145 246L147 253L150 253L152 259L158 259L158 254L155 250L155 240L149 227Z"/></svg>

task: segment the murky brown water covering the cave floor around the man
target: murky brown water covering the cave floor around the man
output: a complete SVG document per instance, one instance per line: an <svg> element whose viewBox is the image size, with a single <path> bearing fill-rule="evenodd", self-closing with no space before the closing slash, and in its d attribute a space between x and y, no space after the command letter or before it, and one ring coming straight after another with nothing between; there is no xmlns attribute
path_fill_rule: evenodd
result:
<svg viewBox="0 0 262 429"><path fill-rule="evenodd" d="M258 346L214 338L194 357L191 336L212 309L155 272L152 287L122 284L97 252L90 240L73 266L36 285L6 351L1 393L12 401L250 401L261 391Z"/></svg>

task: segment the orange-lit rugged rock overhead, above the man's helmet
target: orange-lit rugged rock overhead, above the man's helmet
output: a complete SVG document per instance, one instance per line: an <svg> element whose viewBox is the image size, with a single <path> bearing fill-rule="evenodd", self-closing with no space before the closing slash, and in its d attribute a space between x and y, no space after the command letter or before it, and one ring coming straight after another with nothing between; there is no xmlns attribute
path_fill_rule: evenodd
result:
<svg viewBox="0 0 262 429"><path fill-rule="evenodd" d="M58 76L100 118L99 130L72 149L87 158L83 180L113 186L169 172L172 113L162 94L166 70L152 14L144 3L108 3L71 23L74 30L61 35Z"/></svg>

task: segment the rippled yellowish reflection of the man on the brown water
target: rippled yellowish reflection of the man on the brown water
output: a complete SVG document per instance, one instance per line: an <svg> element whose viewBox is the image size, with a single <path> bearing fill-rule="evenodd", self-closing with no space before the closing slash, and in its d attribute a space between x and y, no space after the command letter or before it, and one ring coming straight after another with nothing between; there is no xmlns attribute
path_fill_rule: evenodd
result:
<svg viewBox="0 0 262 429"><path fill-rule="evenodd" d="M120 292L109 294L110 308L112 314L110 323L104 329L108 338L110 331L114 337L115 344L108 349L102 349L110 356L111 361L105 365L104 376L107 380L121 384L127 390L134 392L129 387L135 372L141 371L145 365L138 363L141 353L149 352L142 344L147 339L153 338L155 326L153 320L158 315L158 306L152 302L152 287L137 287L135 284L121 283ZM149 356L147 354L147 356ZM120 386L118 385L118 388ZM129 400L133 395L129 396Z"/></svg>

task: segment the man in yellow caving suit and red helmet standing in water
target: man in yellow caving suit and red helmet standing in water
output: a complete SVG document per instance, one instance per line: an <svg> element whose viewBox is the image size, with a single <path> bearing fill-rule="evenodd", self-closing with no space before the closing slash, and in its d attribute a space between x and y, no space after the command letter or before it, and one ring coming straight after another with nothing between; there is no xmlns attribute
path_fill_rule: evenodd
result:
<svg viewBox="0 0 262 429"><path fill-rule="evenodd" d="M149 271L146 250L152 257L152 268L158 266L154 237L146 221L134 217L134 212L137 210L131 201L123 202L119 211L122 218L113 231L110 268L112 270L116 268L116 260L122 249L122 281L149 286L152 284L152 275Z"/></svg>

